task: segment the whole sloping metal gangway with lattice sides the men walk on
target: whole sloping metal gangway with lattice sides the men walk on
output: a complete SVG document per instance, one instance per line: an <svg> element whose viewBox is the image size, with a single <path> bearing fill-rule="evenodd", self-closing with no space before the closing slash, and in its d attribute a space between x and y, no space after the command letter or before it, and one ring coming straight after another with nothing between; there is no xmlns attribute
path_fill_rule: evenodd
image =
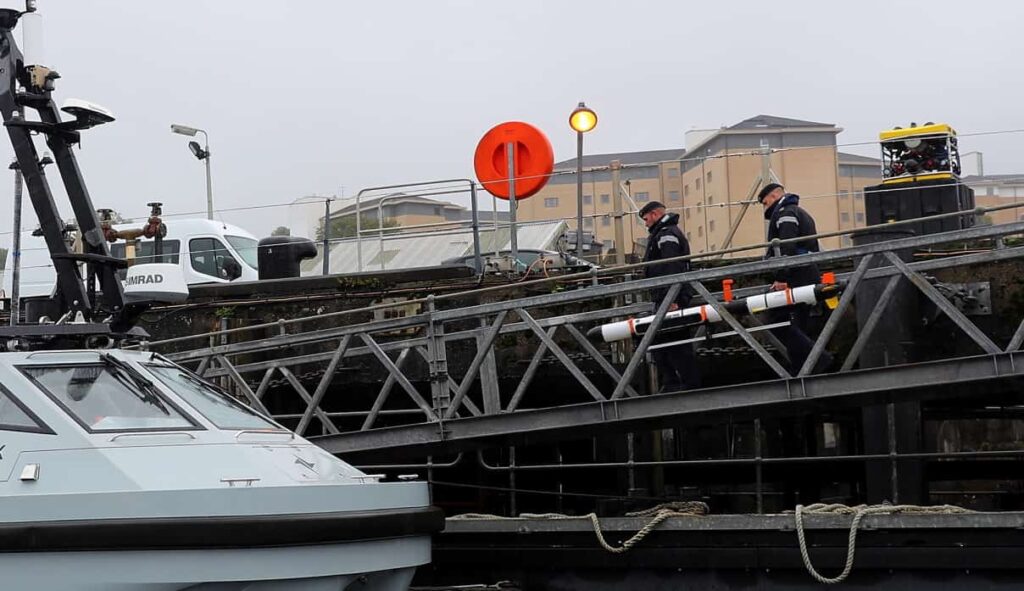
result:
<svg viewBox="0 0 1024 591"><path fill-rule="evenodd" d="M977 214L998 208L978 208L931 216L929 219ZM890 230L915 220L888 223L883 226L859 228L819 235L859 234L879 229ZM757 418L773 413L799 412L800 409L831 404L881 404L894 400L933 399L963 394L964 388L1006 387L1012 380L1024 376L1024 358L1019 348L1024 342L1024 316L1007 318L1016 325L1009 340L993 338L957 309L929 279L927 273L968 267L982 263L997 263L1024 257L1024 246L1008 244L1008 237L1024 234L1024 222L1000 225L976 225L966 229L909 236L897 240L861 244L841 250L800 256L801 263L815 262L822 268L847 265L853 270L838 273L847 287L817 336L813 350L804 366L795 374L786 371L779 360L759 339L772 339L769 331L748 327L734 318L707 286L718 286L722 280L742 283L752 278L795 263L791 259L745 261L715 268L654 279L623 281L625 272L641 265L592 269L563 278L526 282L513 286L496 286L443 294L415 300L423 311L407 318L352 322L366 313L393 304L381 304L359 310L345 310L311 319L293 319L223 332L206 333L148 343L148 348L163 351L175 362L190 365L207 378L219 378L231 384L234 391L263 411L264 395L276 378L284 380L302 400L301 415L279 415L291 421L300 434L310 436L332 453L411 452L422 457L429 454L456 453L483 446L513 446L543 437L569 438L589 436L595 432L627 432L642 428L696 418ZM900 253L929 251L946 245L963 249L965 244L983 243L985 248L946 252L906 261ZM776 244L742 245L726 251L688 258L716 257L752 248L775 248ZM502 299L502 291L539 286L561 281L575 281L575 289L552 290L551 293ZM856 301L862 282L884 283L874 301ZM668 311L668 304L657 310L649 330L621 357L623 363L609 361L606 345L590 342L585 333L597 324L626 316L650 313L649 303L636 301L637 294L653 288L668 288L673 299L684 284L692 287L724 320L724 333L705 338L731 336L738 338L756 353L760 363L769 368L773 379L755 383L735 383L700 390L642 395L635 378L644 365L645 354ZM947 356L927 363L855 369L858 356L868 346L872 332L886 322L887 313L900 286L910 285L941 310L974 343L977 354ZM736 290L736 297L763 292L765 286ZM444 308L441 304L455 297L490 297L462 307ZM632 302L632 303L631 303ZM409 301L403 302L410 303ZM596 308L595 303L599 303ZM584 305L595 309L572 311ZM846 351L845 360L834 373L812 373L812 368L833 341L837 329L848 319L854 306L870 309L855 341ZM1009 313L1009 310L1002 310ZM1020 314L1018 314L1020 315ZM301 330L315 320L322 326ZM347 321L347 322L346 322ZM337 323L324 328L325 323ZM298 329L298 330L296 330ZM272 330L271 336L263 336ZM260 332L262 331L262 332ZM991 332L991 330L989 331ZM1009 327L1007 329L1009 333ZM259 338L253 337L257 335ZM522 379L514 387L502 384L496 371L496 351L504 346L506 335L528 335L536 350ZM217 341L211 339L217 337ZM222 342L227 337L233 342ZM561 337L561 342L558 338ZM996 342L1002 338L1002 342ZM202 339L202 346L190 345ZM449 371L449 350L455 344L470 342L475 354L467 369L459 375ZM209 344L207 344L209 343ZM308 348L315 350L307 352ZM781 348L777 347L776 349ZM176 349L176 350L174 350ZM631 350L630 350L631 349ZM173 351L173 352L170 352ZM357 429L342 429L337 416L324 408L328 396L343 395L344 386L333 384L338 371L355 357L376 360L387 371L372 405L358 411L362 418ZM419 356L427 365L429 391L421 391L413 383L406 366L411 357ZM554 357L579 384L578 400L550 406L534 391L536 376L542 362ZM588 376L578 363L581 357L592 362L606 374L601 387ZM297 367L325 368L315 384L303 383ZM426 386L423 390L426 390ZM568 394L565 394L568 395ZM564 396L563 396L564 397ZM389 411L385 407L401 407L402 424L395 425L392 413L389 426L380 426L380 418ZM269 411L267 411L269 412ZM348 413L351 415L352 413ZM312 430L315 426L317 430Z"/></svg>

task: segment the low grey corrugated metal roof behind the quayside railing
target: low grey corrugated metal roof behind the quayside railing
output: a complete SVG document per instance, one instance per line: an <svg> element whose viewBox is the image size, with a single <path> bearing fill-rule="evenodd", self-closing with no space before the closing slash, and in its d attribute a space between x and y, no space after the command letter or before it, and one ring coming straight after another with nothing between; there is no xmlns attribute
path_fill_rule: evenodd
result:
<svg viewBox="0 0 1024 591"><path fill-rule="evenodd" d="M558 250L558 240L565 234L564 221L541 221L518 224L516 228L518 247L521 249ZM508 226L480 226L480 250L483 253L507 251L512 248ZM382 248L383 246L383 248ZM382 252L383 251L383 252ZM362 239L362 269L399 269L434 266L459 256L472 254L473 231L471 229L435 230L429 234L391 235L385 234L383 245L376 238ZM358 246L352 239L335 243L331 247L332 275L358 272ZM321 275L323 259L303 261L303 276Z"/></svg>

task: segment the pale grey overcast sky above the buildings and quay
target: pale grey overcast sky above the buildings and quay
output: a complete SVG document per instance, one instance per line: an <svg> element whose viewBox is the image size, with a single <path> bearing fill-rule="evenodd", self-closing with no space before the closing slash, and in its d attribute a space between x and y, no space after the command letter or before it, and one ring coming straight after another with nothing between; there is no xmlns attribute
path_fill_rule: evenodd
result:
<svg viewBox="0 0 1024 591"><path fill-rule="evenodd" d="M127 215L152 200L205 210L202 164L172 122L209 130L218 208L467 176L483 132L513 119L571 158L581 99L600 117L588 153L682 145L686 129L761 113L836 123L841 143L909 121L1024 128L1017 2L39 4L58 100L118 117L86 132L80 162L96 206ZM962 139L991 173L1024 172L1022 147L1024 133ZM224 218L264 235L287 215Z"/></svg>

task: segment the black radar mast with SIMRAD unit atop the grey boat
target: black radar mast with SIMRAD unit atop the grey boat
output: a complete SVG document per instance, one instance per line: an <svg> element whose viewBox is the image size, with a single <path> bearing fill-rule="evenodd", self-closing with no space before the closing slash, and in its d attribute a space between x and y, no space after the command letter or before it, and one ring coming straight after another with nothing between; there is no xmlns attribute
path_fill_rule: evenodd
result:
<svg viewBox="0 0 1024 591"><path fill-rule="evenodd" d="M40 64L26 64L14 41L13 29L18 19L35 11L33 0L26 4L25 12L0 9L0 114L56 271L53 297L59 313L51 324L0 328L0 350L112 346L145 338L145 332L134 324L154 301L162 299L153 284L166 284L165 301L174 301L180 299L183 290L187 293L183 279L174 277L171 265L148 269L144 267L150 265L135 265L129 273L129 285L147 289L137 292L140 297L132 297L129 288L126 296L118 277L118 269L126 263L111 256L72 150L80 142L82 130L110 123L114 115L79 99L69 99L61 110L57 109L52 93L60 75ZM38 121L26 117L26 111L38 113ZM60 111L74 119L62 121ZM74 252L65 240L67 228L43 172L34 134L45 138L53 155L82 237L82 252ZM146 273L148 281L130 281L131 276Z"/></svg>

